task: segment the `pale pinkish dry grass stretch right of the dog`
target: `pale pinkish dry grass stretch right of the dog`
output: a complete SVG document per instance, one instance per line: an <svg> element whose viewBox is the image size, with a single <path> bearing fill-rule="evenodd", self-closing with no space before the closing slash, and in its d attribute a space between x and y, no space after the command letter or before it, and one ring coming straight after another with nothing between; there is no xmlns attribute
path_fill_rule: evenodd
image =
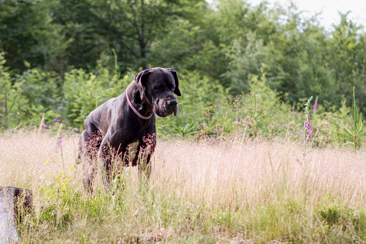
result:
<svg viewBox="0 0 366 244"><path fill-rule="evenodd" d="M317 204L329 193L363 206L365 156L328 148L307 149L304 158L302 144L280 139L175 140L158 144L153 181L209 206L256 206L279 196Z"/></svg>

